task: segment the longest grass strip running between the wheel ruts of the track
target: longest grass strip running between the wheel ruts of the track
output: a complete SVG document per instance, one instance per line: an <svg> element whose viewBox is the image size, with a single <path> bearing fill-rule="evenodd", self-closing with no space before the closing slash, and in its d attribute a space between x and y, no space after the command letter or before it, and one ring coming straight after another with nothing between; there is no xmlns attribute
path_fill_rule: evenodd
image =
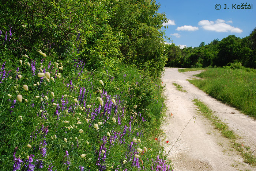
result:
<svg viewBox="0 0 256 171"><path fill-rule="evenodd" d="M198 99L193 99L194 104L200 110L207 119L209 119L215 127L221 132L221 135L230 139L233 144L233 148L240 152L240 155L244 158L244 162L256 166L256 156L253 152L249 151L250 147L244 146L241 143L236 142L237 135L229 130L229 127L223 123L217 116L215 116L210 108Z"/></svg>

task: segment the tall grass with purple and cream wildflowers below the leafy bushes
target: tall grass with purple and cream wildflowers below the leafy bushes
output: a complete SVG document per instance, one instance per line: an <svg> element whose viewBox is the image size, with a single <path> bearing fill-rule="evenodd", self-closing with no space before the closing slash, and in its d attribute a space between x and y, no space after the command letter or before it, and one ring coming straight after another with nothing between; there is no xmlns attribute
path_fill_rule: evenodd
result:
<svg viewBox="0 0 256 171"><path fill-rule="evenodd" d="M88 71L39 54L0 63L1 170L172 169L156 140L166 110L159 81L122 64Z"/></svg>

